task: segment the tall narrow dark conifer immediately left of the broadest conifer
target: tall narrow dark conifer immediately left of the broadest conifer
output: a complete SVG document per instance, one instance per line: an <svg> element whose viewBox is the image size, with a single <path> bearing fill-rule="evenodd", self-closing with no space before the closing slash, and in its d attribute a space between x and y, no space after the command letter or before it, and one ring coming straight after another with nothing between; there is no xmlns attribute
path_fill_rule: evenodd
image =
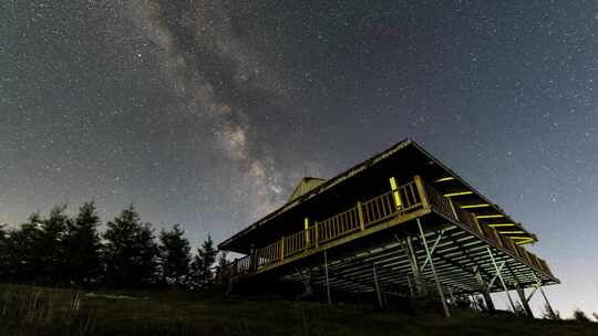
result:
<svg viewBox="0 0 598 336"><path fill-rule="evenodd" d="M93 202L83 203L78 217L69 224L64 248L69 279L74 284L90 285L100 281L102 243L99 225L100 217Z"/></svg>

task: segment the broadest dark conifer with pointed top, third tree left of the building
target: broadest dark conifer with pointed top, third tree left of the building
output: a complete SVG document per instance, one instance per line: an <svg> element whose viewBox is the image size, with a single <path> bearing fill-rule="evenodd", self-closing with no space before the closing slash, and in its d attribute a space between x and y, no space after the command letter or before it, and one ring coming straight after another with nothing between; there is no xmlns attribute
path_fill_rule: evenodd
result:
<svg viewBox="0 0 598 336"><path fill-rule="evenodd" d="M155 282L158 254L151 223L142 223L133 206L106 224L106 276L116 287L147 286Z"/></svg>

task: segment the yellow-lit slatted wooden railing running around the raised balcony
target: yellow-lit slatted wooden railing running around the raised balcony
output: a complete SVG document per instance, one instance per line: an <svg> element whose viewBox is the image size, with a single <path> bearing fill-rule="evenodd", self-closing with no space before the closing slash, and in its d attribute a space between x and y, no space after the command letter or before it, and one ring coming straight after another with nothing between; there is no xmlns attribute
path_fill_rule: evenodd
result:
<svg viewBox="0 0 598 336"><path fill-rule="evenodd" d="M425 195L421 195L425 192ZM399 196L399 203L395 200ZM398 216L402 216L421 209L426 202L430 207L455 219L458 223L468 227L474 232L489 240L494 245L512 251L528 265L538 267L551 275L544 260L527 252L523 246L516 245L511 239L506 239L487 225L481 225L474 214L467 210L455 207L451 199L436 190L431 185L423 182L419 177L413 181L398 187L395 191L385 192L330 218L316 221L307 230L295 232L280 238L269 245L254 251L255 259L246 256L236 261L237 274L246 274L265 266L276 264L303 251L319 248L331 241L340 239L353 232L365 230Z"/></svg>

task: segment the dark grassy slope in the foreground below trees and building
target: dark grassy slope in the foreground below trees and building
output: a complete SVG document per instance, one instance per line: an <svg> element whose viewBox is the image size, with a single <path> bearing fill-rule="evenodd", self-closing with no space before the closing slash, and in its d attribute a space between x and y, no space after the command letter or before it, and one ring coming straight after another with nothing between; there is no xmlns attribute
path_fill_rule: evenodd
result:
<svg viewBox="0 0 598 336"><path fill-rule="evenodd" d="M457 311L378 311L187 292L103 292L0 285L0 335L598 335L598 324Z"/></svg>

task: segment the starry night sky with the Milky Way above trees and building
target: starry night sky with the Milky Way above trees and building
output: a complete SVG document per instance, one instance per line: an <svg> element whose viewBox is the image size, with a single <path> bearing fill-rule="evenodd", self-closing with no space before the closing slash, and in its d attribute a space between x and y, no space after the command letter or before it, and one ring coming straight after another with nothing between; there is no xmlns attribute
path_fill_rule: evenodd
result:
<svg viewBox="0 0 598 336"><path fill-rule="evenodd" d="M0 4L0 222L93 199L219 242L405 137L598 312L597 1Z"/></svg>

